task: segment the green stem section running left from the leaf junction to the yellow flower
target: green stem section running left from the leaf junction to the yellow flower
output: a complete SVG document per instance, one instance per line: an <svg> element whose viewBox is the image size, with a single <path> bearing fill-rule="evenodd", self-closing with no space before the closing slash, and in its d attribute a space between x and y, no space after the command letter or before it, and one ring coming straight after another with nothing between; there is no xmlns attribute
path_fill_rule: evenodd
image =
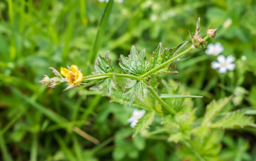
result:
<svg viewBox="0 0 256 161"><path fill-rule="evenodd" d="M128 74L120 74L120 73L106 73L106 74L96 74L96 75L92 75L92 76L84 76L83 80L94 80L94 79L103 79L103 78L107 78L107 77L111 77L111 76L119 76L119 77L124 77L124 78L131 78L131 79L135 79L135 80L139 80L138 76L132 76L132 75L128 75Z"/></svg>

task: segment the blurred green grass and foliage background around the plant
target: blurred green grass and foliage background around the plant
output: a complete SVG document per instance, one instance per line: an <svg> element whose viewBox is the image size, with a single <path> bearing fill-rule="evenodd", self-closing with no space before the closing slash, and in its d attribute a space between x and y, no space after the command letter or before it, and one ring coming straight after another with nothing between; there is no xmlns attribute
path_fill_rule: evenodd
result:
<svg viewBox="0 0 256 161"><path fill-rule="evenodd" d="M208 42L220 42L222 54L235 57L235 70L219 74L211 68L216 57L195 50L173 64L179 74L159 79L172 78L191 94L204 96L194 100L197 117L211 100L234 94L237 87L243 92L229 108L256 110L255 0L115 1L102 19L106 6L98 0L0 1L0 160L180 161L174 143L139 135L132 139L127 119L133 107L82 88L46 89L38 81L53 76L49 67L76 64L89 74L97 54L106 51L121 72L119 55L128 55L132 45L139 51L145 48L149 59L159 42L175 47L190 40L188 30L194 32L198 17L203 36L208 27L218 28ZM78 135L73 126L100 144ZM221 158L255 160L255 135L253 129L226 131Z"/></svg>

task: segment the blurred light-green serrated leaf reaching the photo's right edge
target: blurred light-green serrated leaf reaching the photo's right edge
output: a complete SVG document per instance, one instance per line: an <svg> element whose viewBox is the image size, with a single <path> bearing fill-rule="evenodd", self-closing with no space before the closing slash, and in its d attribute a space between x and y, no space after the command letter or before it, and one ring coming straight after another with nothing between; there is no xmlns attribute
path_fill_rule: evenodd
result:
<svg viewBox="0 0 256 161"><path fill-rule="evenodd" d="M245 116L244 110L237 110L227 114L224 118L212 123L210 128L234 128L234 127L245 127L253 126L256 127L256 124L253 123L252 117Z"/></svg>

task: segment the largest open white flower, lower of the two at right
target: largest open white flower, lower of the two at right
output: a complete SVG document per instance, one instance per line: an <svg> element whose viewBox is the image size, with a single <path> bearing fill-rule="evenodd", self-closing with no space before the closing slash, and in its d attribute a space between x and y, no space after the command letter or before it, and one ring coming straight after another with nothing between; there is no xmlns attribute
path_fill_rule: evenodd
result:
<svg viewBox="0 0 256 161"><path fill-rule="evenodd" d="M229 55L225 58L224 55L219 55L217 60L218 62L214 61L211 65L213 69L219 68L219 73L226 73L226 70L233 71L235 69L235 64L232 63L235 60L234 56Z"/></svg>

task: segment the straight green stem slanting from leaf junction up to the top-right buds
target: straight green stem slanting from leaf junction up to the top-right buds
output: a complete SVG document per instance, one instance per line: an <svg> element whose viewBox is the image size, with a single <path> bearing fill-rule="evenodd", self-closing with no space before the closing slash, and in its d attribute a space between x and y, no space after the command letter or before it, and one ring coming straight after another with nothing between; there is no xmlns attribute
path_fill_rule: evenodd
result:
<svg viewBox="0 0 256 161"><path fill-rule="evenodd" d="M205 36L204 40L206 40L207 38L209 38L208 36ZM189 51L191 51L192 49L195 49L194 45L191 45L187 50L181 52L179 55L176 55L175 57L167 60L166 62L158 65L157 67L149 70L148 72L146 72L145 74L141 75L139 77L139 79L141 80L142 78L144 78L145 76L149 76L151 73L157 71L158 69L162 68L163 66L167 65L167 64L170 64L171 62L173 62L175 59L178 59L179 57L181 57L182 55L185 55L187 54Z"/></svg>

